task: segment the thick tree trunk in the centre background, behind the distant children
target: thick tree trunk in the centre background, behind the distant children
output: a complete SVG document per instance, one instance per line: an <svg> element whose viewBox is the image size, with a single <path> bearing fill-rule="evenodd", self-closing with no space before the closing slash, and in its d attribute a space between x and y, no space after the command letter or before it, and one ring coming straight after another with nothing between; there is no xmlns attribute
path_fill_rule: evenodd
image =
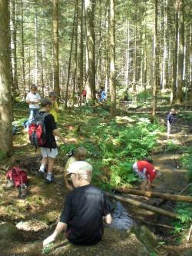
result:
<svg viewBox="0 0 192 256"><path fill-rule="evenodd" d="M94 7L95 0L85 0L85 13L87 25L87 46L88 46L88 81L87 100L94 103L95 100L95 35L94 35Z"/></svg>

